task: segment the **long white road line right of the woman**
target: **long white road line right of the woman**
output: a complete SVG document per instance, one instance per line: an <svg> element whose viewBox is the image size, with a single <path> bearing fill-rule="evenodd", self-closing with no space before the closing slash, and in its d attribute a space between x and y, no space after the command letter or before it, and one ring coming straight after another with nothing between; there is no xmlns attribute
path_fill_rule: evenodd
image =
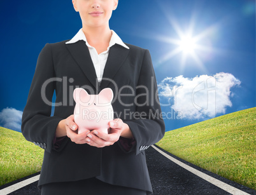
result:
<svg viewBox="0 0 256 195"><path fill-rule="evenodd" d="M155 149L157 152L160 152L160 154L162 154L163 156L165 156L166 158L170 159L171 161L173 161L174 163L176 163L177 165L180 165L181 167L185 168L186 170L190 171L191 173L194 173L195 175L203 178L204 180L210 182L213 185L216 185L217 187L223 189L224 191L227 191L231 194L234 195L250 195L244 191L241 191L239 189L237 189L236 187L233 187L229 184L225 184L224 182L217 180L216 178L211 177L210 175L207 175L199 170L196 170L195 168L192 168L191 166L186 165L185 163L182 163L181 161L178 161L177 159L169 156L168 154L166 154L165 152L161 151L160 149L158 149L157 147L155 147L154 145L152 145L153 149Z"/></svg>

